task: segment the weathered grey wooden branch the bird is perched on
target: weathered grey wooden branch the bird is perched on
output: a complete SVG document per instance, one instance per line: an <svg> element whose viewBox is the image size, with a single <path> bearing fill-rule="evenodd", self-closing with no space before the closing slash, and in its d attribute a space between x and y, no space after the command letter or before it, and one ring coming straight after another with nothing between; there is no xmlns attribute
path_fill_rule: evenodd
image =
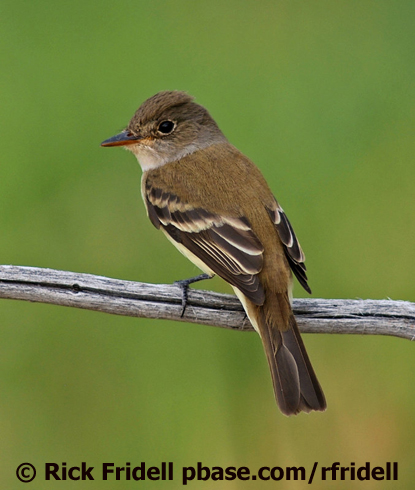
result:
<svg viewBox="0 0 415 490"><path fill-rule="evenodd" d="M189 303L181 318L181 289L174 284L147 284L53 269L2 265L0 298L252 330L240 302L229 294L189 290ZM300 330L305 333L415 338L415 303L295 299L293 307Z"/></svg>

